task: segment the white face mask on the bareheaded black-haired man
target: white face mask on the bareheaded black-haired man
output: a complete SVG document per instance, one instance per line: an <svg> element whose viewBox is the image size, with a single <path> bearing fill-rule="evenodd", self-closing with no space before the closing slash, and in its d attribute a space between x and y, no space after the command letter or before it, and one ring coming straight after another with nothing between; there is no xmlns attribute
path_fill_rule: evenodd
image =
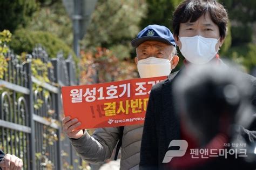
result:
<svg viewBox="0 0 256 170"><path fill-rule="evenodd" d="M179 37L181 42L180 52L193 64L206 64L217 54L215 45L219 39L205 38L202 36Z"/></svg>

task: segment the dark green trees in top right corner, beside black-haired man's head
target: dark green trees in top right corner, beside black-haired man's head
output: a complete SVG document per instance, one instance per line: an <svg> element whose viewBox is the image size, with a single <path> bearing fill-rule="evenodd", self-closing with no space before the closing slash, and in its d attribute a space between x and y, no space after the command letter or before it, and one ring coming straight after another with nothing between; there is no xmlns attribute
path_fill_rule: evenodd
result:
<svg viewBox="0 0 256 170"><path fill-rule="evenodd" d="M231 20L232 44L223 52L225 56L245 66L250 71L256 66L256 42L253 29L256 22L256 1L221 0Z"/></svg>

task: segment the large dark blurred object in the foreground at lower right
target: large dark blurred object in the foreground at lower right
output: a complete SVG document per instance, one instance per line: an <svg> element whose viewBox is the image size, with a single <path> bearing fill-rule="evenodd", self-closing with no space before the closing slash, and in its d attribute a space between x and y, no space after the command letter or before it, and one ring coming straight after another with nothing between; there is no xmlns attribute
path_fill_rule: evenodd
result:
<svg viewBox="0 0 256 170"><path fill-rule="evenodd" d="M252 99L256 88L248 74L220 64L191 64L180 74L173 90L181 118L181 137L189 140L184 158L173 159L171 166L174 169L255 168L256 131L252 128L255 128L256 112ZM227 151L227 156L200 159L199 154L199 159L193 159L190 144L200 151L207 150L208 155L214 149ZM239 157L241 149L246 153L242 153L243 157Z"/></svg>

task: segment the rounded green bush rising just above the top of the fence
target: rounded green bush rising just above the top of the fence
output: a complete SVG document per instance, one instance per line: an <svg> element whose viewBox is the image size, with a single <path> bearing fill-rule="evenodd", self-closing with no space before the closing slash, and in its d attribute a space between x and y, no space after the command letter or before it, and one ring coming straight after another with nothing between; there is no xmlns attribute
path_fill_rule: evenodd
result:
<svg viewBox="0 0 256 170"><path fill-rule="evenodd" d="M14 50L15 53L31 53L37 44L41 44L45 47L50 58L55 58L57 53L62 51L65 57L71 54L73 59L77 62L77 57L72 49L66 45L63 40L49 32L28 31L25 29L17 30L10 42L10 48Z"/></svg>

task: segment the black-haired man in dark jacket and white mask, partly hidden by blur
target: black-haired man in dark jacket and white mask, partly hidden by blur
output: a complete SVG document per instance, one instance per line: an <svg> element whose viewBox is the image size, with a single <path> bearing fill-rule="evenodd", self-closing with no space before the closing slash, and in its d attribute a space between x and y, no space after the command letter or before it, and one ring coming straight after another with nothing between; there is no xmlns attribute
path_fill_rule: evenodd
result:
<svg viewBox="0 0 256 170"><path fill-rule="evenodd" d="M218 50L224 43L228 22L224 6L212 0L187 0L178 6L173 15L174 38L185 57L182 70L186 72L186 65L190 64L221 63ZM169 78L152 88L140 149L140 169L169 169L170 166L163 161L166 152L173 149L170 142L184 139L180 131L180 115L174 112L176 105L172 92L173 83L178 77L179 73L173 80ZM245 77L256 89L256 79L249 75ZM256 106L256 94L251 101ZM254 142L255 129L249 130L254 131L244 130L240 133L247 136L249 142ZM187 144L183 147L186 148ZM184 153L180 150L178 154L181 157Z"/></svg>

